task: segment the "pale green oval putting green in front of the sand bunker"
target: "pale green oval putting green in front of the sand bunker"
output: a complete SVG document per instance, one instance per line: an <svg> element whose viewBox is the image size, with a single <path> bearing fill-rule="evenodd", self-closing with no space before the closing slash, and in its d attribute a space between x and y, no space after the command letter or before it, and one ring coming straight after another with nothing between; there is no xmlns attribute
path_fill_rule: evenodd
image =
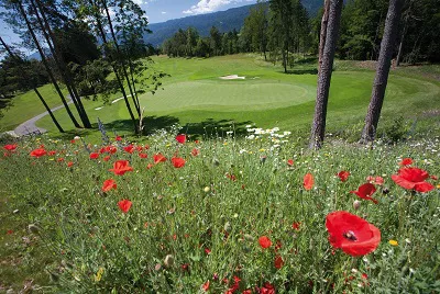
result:
<svg viewBox="0 0 440 294"><path fill-rule="evenodd" d="M151 112L229 112L287 108L314 99L315 89L308 84L270 80L204 80L169 84L155 95L143 97L141 103Z"/></svg>

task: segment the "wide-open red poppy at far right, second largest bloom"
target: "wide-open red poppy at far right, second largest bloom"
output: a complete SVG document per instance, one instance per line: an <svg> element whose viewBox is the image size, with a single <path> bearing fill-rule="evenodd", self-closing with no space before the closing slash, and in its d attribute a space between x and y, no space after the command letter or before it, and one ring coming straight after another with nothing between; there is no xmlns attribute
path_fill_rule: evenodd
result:
<svg viewBox="0 0 440 294"><path fill-rule="evenodd" d="M433 185L425 182L429 178L429 173L426 170L418 168L402 168L398 174L393 174L392 179L396 184L418 192L428 192L433 189Z"/></svg>

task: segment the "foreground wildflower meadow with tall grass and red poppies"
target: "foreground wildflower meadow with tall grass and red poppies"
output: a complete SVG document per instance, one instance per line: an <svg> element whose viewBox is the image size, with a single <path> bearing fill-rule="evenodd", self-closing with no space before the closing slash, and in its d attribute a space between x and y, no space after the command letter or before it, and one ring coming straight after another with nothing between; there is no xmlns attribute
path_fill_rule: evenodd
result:
<svg viewBox="0 0 440 294"><path fill-rule="evenodd" d="M439 293L438 135L245 128L4 144L0 291Z"/></svg>

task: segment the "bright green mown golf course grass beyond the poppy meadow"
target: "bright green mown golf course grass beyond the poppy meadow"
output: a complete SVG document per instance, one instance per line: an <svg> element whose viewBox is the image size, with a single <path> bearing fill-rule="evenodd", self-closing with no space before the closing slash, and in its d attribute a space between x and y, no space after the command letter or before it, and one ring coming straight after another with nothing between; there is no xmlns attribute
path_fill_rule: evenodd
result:
<svg viewBox="0 0 440 294"><path fill-rule="evenodd" d="M235 127L255 123L261 127L298 131L308 129L311 123L317 80L316 75L309 74L314 71L312 64L294 68L295 74L301 75L284 75L280 67L264 63L255 55L154 59L154 67L172 77L163 80L164 90L158 90L155 95L146 93L141 97L145 115L150 116L146 127L179 123L186 126L187 132L197 133L206 124L234 121ZM356 70L350 63L340 63L337 68L328 112L331 132L361 124L374 78L374 71ZM397 113L414 117L426 110L440 108L440 83L419 75L419 71L417 75L410 75L408 70L392 72L381 123L393 121ZM248 79L219 79L235 74ZM123 101L99 111L95 109L101 106L101 102L86 101L85 104L92 122L99 117L109 124L110 129L119 133L132 131ZM63 111L58 111L57 116L66 129L72 127ZM37 125L54 129L50 117L41 120Z"/></svg>

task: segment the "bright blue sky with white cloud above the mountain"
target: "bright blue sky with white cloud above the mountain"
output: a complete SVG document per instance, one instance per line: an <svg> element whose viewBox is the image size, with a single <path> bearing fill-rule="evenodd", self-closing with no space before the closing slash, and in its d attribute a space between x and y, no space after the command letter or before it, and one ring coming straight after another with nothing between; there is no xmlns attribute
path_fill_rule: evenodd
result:
<svg viewBox="0 0 440 294"><path fill-rule="evenodd" d="M146 12L150 23L165 22L189 15L222 11L255 3L256 0L133 0ZM1 11L1 9L0 9ZM0 35L7 43L18 43L19 37L0 20Z"/></svg>

